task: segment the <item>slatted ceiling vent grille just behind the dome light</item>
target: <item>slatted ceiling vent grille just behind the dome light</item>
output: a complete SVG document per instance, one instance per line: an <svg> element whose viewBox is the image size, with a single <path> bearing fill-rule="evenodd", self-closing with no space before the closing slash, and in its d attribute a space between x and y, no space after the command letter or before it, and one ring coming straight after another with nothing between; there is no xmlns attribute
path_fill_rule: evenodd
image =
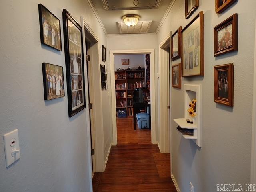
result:
<svg viewBox="0 0 256 192"><path fill-rule="evenodd" d="M118 22L119 33L148 33L152 21L139 21L137 25L128 27L124 22Z"/></svg>

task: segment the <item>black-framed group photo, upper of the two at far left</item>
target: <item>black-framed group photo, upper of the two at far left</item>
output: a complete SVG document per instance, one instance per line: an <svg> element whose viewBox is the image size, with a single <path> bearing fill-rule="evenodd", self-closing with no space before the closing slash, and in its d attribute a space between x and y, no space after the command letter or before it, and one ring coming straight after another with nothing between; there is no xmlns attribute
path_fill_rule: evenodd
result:
<svg viewBox="0 0 256 192"><path fill-rule="evenodd" d="M38 4L41 43L62 51L60 20L45 6Z"/></svg>

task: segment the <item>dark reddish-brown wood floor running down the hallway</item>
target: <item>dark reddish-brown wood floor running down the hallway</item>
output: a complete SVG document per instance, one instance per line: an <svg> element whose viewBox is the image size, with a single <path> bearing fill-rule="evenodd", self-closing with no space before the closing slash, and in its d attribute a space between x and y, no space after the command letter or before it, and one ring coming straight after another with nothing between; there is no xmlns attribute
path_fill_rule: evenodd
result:
<svg viewBox="0 0 256 192"><path fill-rule="evenodd" d="M105 172L94 173L94 192L176 192L170 153L151 144L150 130L135 131L132 118L117 118L117 135Z"/></svg>

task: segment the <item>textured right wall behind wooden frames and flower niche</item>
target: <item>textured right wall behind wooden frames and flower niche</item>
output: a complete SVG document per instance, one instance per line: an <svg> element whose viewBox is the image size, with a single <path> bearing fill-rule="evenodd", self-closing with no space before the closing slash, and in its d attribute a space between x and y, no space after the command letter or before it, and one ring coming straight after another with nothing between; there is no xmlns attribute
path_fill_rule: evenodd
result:
<svg viewBox="0 0 256 192"><path fill-rule="evenodd" d="M185 27L204 11L205 75L182 78L182 89L172 88L172 118L182 118L183 85L202 84L202 149L181 137L172 121L172 168L182 192L189 191L190 182L196 192L213 192L216 184L250 182L255 7L255 0L239 0L217 15L215 1L200 0L196 13L186 20L184 0L176 0L157 33L159 46L170 31ZM234 13L239 17L238 52L214 57L213 28ZM213 66L226 63L234 63L233 108L214 103Z"/></svg>

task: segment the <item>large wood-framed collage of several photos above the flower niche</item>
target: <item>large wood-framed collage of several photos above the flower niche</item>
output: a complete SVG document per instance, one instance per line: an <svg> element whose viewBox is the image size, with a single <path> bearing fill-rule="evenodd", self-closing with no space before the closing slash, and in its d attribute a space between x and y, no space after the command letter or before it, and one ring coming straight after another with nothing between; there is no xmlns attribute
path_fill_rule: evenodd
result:
<svg viewBox="0 0 256 192"><path fill-rule="evenodd" d="M201 11L182 33L182 77L204 76L204 13Z"/></svg>

